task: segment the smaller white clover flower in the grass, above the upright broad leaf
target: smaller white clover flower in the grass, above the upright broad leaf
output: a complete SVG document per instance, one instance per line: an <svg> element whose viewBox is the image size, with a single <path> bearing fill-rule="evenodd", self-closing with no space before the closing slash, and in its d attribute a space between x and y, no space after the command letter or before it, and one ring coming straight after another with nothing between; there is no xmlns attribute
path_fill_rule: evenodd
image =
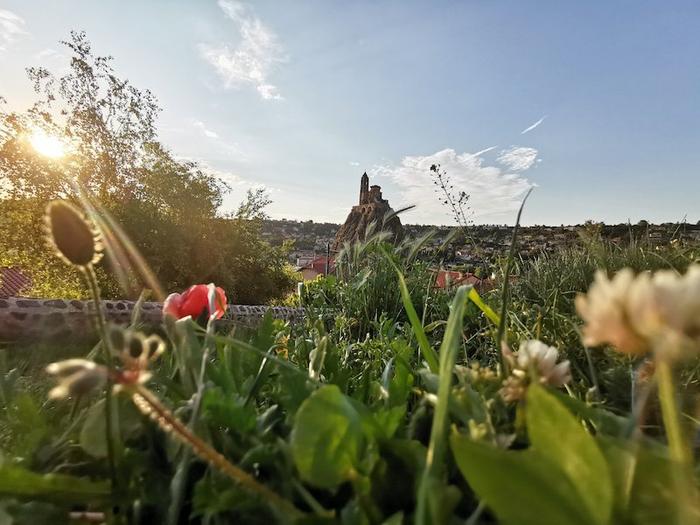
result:
<svg viewBox="0 0 700 525"><path fill-rule="evenodd" d="M541 341L523 341L515 353L504 344L502 352L511 368L501 388L506 402L524 399L531 383L561 387L571 381L569 361L557 363L559 351Z"/></svg>

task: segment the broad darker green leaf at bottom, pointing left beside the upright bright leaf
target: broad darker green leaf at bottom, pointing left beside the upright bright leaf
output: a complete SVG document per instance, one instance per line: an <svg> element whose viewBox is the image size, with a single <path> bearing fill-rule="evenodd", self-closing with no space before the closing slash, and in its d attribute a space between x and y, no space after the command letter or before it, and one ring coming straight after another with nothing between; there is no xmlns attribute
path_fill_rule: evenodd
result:
<svg viewBox="0 0 700 525"><path fill-rule="evenodd" d="M457 466L506 525L590 525L592 517L566 475L535 450L510 451L453 434Z"/></svg>

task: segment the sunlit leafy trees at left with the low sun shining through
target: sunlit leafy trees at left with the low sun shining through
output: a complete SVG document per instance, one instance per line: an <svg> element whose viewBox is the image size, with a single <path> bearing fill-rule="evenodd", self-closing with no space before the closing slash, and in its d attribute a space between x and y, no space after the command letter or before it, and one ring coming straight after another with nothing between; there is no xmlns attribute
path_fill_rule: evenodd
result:
<svg viewBox="0 0 700 525"><path fill-rule="evenodd" d="M265 192L249 192L237 214L221 214L230 188L158 141L154 95L120 79L111 57L93 55L84 33L72 32L63 44L72 54L70 70L55 77L28 69L38 100L21 113L0 111L0 244L14 254L0 264L50 268L50 254L37 250L43 208L55 198L80 201L82 188L121 225L165 290L214 281L234 301L264 302L290 288L283 251L259 238L270 203ZM28 138L38 130L61 137L66 155L37 155ZM115 269L129 277L122 286L138 284L129 250ZM108 294L121 293L114 277L101 275Z"/></svg>

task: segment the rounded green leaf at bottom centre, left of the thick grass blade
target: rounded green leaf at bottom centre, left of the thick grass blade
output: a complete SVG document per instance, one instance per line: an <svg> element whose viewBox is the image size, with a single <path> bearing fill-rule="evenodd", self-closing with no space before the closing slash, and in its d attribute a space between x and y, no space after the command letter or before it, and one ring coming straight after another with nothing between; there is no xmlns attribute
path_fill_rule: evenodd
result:
<svg viewBox="0 0 700 525"><path fill-rule="evenodd" d="M335 385L316 390L296 413L292 454L312 485L330 489L353 479L367 445L360 414Z"/></svg>

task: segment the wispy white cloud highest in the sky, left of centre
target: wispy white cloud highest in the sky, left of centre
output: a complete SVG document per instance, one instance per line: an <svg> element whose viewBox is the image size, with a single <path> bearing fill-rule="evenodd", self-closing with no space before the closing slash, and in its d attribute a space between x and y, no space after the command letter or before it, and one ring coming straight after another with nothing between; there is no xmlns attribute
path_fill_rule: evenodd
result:
<svg viewBox="0 0 700 525"><path fill-rule="evenodd" d="M262 99L282 100L277 86L268 80L285 60L277 35L243 3L219 0L219 7L238 26L241 41L235 47L200 44L204 59L214 66L226 88L253 85Z"/></svg>

